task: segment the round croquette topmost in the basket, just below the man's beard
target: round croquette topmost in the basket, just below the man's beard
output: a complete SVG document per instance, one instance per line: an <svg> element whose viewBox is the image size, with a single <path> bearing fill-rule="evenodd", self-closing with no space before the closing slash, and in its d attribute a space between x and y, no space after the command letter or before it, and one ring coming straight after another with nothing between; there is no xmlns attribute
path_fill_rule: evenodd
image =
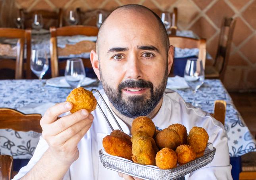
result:
<svg viewBox="0 0 256 180"><path fill-rule="evenodd" d="M136 131L144 131L150 137L153 137L156 131L156 127L151 119L146 116L139 116L133 120L131 125L131 134L133 135Z"/></svg>

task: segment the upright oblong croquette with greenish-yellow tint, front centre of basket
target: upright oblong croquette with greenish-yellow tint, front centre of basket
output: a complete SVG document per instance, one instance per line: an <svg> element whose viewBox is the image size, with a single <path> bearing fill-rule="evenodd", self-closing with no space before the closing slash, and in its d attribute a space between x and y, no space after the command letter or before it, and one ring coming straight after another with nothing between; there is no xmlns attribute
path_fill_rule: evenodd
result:
<svg viewBox="0 0 256 180"><path fill-rule="evenodd" d="M156 153L152 147L150 137L139 136L134 139L133 146L133 162L143 165L155 165Z"/></svg>

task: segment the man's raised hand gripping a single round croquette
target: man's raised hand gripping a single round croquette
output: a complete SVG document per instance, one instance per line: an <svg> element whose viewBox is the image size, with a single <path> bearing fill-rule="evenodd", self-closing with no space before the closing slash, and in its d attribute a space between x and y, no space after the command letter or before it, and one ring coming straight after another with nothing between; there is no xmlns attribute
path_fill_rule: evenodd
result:
<svg viewBox="0 0 256 180"><path fill-rule="evenodd" d="M48 108L40 120L42 137L49 146L48 152L55 160L67 165L71 165L79 157L77 144L87 133L93 120L92 114L85 109L57 119L71 108L70 102L56 104Z"/></svg>

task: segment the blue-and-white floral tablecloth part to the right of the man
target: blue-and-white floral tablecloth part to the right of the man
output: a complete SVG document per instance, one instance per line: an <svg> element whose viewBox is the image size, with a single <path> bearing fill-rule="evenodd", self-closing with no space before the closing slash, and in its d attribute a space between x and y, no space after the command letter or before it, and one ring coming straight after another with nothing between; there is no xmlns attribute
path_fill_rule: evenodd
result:
<svg viewBox="0 0 256 180"><path fill-rule="evenodd" d="M190 89L175 91L187 102L192 102L193 96ZM196 93L196 102L202 106L204 111L213 113L215 100L227 102L224 127L228 135L229 156L237 157L248 152L256 152L256 142L221 81L205 80Z"/></svg>

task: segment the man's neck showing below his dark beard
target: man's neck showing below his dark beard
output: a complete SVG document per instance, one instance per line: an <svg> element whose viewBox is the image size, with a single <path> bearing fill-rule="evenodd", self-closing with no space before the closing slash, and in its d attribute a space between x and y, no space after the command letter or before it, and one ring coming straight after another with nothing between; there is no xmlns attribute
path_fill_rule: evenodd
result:
<svg viewBox="0 0 256 180"><path fill-rule="evenodd" d="M152 112L150 112L150 114L147 115L147 117L149 117L150 119L152 119L153 117L156 116L156 114L158 113L158 111L160 110L161 106L163 103L163 97L162 99L158 102L158 104L156 105L156 107L152 110ZM115 107L112 105L112 103L110 102L110 108L114 111L114 113L129 127L130 131L131 131L131 124L133 123L133 119L131 117L127 117L124 116L123 114L121 114L119 111L117 111L115 109Z"/></svg>

